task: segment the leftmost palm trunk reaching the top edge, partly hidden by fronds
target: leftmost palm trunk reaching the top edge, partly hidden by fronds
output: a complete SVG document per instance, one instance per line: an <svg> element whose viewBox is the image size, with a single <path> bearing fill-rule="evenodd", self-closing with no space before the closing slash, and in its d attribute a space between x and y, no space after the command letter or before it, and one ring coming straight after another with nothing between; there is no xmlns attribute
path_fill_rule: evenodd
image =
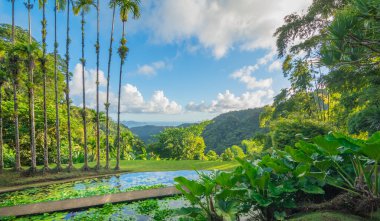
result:
<svg viewBox="0 0 380 221"><path fill-rule="evenodd" d="M15 0L12 0L12 44L15 44ZM14 62L15 59L12 59ZM12 64L13 66L16 64ZM18 70L13 68L13 110L14 110L14 124L15 124L15 170L21 170L20 161L20 136L19 136L19 126L18 126L18 101L17 101L17 87L18 87Z"/></svg>

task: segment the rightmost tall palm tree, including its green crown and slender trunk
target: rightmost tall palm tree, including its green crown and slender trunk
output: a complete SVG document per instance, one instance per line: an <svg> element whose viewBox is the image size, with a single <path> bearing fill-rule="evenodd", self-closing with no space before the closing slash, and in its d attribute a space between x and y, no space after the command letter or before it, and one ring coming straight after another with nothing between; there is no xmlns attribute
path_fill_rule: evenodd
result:
<svg viewBox="0 0 380 221"><path fill-rule="evenodd" d="M131 12L134 19L140 17L140 0L120 0L118 1L120 7L120 19L123 22L123 32L120 40L119 56L120 56L120 73L119 73L119 93L117 103L117 158L115 170L120 169L120 93L121 93L121 77L123 73L123 65L125 58L128 54L128 47L126 46L127 39L125 38L125 24L128 21L128 15Z"/></svg>

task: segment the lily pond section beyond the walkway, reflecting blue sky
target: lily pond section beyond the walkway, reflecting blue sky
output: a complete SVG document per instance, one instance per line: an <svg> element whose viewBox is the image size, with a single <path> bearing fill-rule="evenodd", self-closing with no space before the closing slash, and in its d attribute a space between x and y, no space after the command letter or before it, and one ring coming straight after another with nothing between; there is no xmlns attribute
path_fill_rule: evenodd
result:
<svg viewBox="0 0 380 221"><path fill-rule="evenodd" d="M209 171L200 171L209 173ZM196 171L125 173L0 194L0 207L174 186L174 178L198 179Z"/></svg>

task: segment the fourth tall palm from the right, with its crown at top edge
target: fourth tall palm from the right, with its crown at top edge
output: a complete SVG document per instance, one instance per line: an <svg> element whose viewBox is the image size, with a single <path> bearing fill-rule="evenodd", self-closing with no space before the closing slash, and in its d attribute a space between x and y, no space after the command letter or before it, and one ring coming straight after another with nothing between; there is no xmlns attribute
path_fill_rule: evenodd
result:
<svg viewBox="0 0 380 221"><path fill-rule="evenodd" d="M84 24L85 21L85 14L90 10L90 6L94 6L93 0L78 0L76 1L76 5L74 7L74 14L78 15L79 12L81 13L82 21L81 21L81 31L82 31L82 58L80 59L82 63L82 85L83 85L83 145L84 145L84 165L83 170L88 170L88 147L87 147L87 126L86 126L86 85L85 85L85 77L84 77L84 68L86 65L86 60L84 58ZM96 7L96 6L95 6Z"/></svg>

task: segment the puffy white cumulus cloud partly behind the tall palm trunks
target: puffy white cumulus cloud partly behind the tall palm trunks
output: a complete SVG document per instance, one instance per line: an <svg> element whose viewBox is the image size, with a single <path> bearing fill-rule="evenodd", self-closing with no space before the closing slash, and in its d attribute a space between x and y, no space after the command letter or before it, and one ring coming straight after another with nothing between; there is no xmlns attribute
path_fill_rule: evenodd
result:
<svg viewBox="0 0 380 221"><path fill-rule="evenodd" d="M89 108L96 107L96 70L85 69L86 83L86 106ZM104 111L106 103L106 85L107 80L102 71L99 72L99 104L100 110ZM77 100L82 101L82 65L77 64L73 72L73 78L70 82L70 95ZM177 114L182 112L182 106L175 101L169 100L163 91L155 91L150 100L145 100L138 88L131 84L125 84L121 89L120 109L123 113L158 113L158 114ZM117 111L117 94L110 93L110 111ZM78 103L82 105L83 103Z"/></svg>

